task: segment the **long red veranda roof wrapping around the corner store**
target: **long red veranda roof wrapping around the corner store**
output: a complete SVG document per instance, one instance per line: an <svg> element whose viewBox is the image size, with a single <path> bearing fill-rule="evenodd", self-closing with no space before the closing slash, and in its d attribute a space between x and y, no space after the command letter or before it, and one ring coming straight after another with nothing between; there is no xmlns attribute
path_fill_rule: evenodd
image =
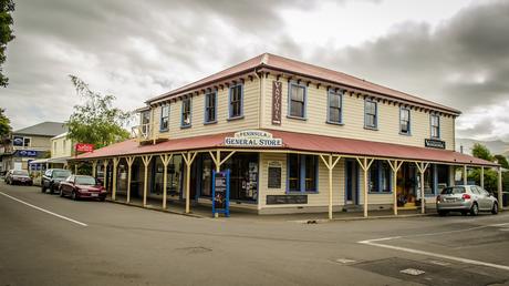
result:
<svg viewBox="0 0 509 286"><path fill-rule="evenodd" d="M332 137L324 135L314 135L297 132L263 130L270 132L273 137L282 139L281 147L271 147L274 152L301 151L311 153L332 153L339 155L351 156L368 156L378 159L397 159L407 161L425 161L448 164L467 164L467 165L485 165L499 166L498 164L481 159L477 159L467 154L461 154L450 150L439 150L430 147L417 147L401 145L394 143L383 143L373 141L363 141L344 137ZM106 147L95 150L90 153L81 154L77 157L70 160L93 160L113 156L131 156L154 154L163 152L186 152L206 149L232 149L225 146L225 137L232 136L233 133L221 133L212 135L201 135L186 139L173 139L158 144L139 145L136 140L127 140ZM424 142L423 142L424 145ZM235 147L242 150L242 147ZM249 147L245 150L257 150ZM268 150L264 147L263 150Z"/></svg>

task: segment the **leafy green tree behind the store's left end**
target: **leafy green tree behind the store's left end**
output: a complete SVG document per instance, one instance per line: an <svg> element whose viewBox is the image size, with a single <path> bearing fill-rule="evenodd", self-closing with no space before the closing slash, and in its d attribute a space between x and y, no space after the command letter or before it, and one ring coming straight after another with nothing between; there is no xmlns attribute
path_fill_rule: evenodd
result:
<svg viewBox="0 0 509 286"><path fill-rule="evenodd" d="M91 143L95 149L128 139L123 127L131 113L113 108L114 95L93 92L81 79L70 75L76 93L85 100L83 105L74 105L74 112L66 122L67 137L76 143Z"/></svg>

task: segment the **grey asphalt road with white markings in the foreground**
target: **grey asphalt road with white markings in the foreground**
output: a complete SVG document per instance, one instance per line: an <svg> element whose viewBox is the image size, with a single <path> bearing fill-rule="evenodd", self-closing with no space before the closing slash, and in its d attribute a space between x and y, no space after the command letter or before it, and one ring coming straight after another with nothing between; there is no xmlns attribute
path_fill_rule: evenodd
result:
<svg viewBox="0 0 509 286"><path fill-rule="evenodd" d="M0 285L419 284L509 285L509 212L214 219L0 183Z"/></svg>

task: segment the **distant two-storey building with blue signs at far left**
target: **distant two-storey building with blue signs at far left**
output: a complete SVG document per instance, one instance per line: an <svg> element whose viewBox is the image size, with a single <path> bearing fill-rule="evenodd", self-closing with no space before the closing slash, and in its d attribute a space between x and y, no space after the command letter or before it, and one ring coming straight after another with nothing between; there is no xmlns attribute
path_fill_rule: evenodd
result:
<svg viewBox="0 0 509 286"><path fill-rule="evenodd" d="M64 132L62 122L42 122L13 131L1 154L2 170L28 170L31 161L49 157L51 137Z"/></svg>

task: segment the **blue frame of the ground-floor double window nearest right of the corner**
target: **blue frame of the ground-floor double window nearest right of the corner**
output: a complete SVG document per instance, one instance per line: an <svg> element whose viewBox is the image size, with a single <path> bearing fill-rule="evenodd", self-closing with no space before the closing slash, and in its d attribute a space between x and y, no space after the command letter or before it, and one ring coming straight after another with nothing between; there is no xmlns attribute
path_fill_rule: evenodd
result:
<svg viewBox="0 0 509 286"><path fill-rule="evenodd" d="M290 190L290 156L297 156L298 159L298 172L299 172L299 190ZM305 190L305 159L307 156L312 156L314 161L314 187L313 190ZM310 154L287 154L287 194L318 194L319 193L319 181L320 181L320 161L316 155Z"/></svg>

